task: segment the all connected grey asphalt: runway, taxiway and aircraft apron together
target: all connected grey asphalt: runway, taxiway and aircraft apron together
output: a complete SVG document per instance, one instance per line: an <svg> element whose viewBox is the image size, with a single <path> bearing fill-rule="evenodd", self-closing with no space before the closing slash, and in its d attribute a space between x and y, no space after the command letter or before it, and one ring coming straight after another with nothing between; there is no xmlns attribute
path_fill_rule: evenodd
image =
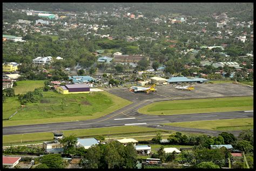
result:
<svg viewBox="0 0 256 171"><path fill-rule="evenodd" d="M186 115L144 115L138 113L138 109L143 106L166 100L191 99L191 98L218 98L234 96L253 96L253 88L241 86L240 84L197 84L193 91L183 91L174 89L175 86L157 86L157 92L150 94L130 92L127 88L105 89L111 94L128 99L133 103L122 109L114 111L109 115L92 119L78 120L76 122L49 123L49 124L31 124L3 127L3 135L23 134L36 132L51 132L62 130L89 129L98 127L124 126L125 124L134 125L157 125L173 122L192 122L197 120L215 120L215 119L235 119L235 118L253 118L253 112L234 111L234 112L215 112L215 113L194 113ZM115 120L117 119L117 120ZM172 127L172 129L174 129ZM176 128L178 129L178 128ZM186 132L193 132L194 129L187 129ZM185 132L185 131L183 131Z"/></svg>

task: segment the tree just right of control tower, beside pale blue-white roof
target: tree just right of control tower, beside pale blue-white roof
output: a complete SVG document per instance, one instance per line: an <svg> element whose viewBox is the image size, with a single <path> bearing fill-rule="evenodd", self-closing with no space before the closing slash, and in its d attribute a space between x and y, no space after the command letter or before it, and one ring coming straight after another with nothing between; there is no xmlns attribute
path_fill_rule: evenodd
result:
<svg viewBox="0 0 256 171"><path fill-rule="evenodd" d="M65 137L60 141L60 144L63 144L63 153L64 154L75 154L75 146L77 144L77 137L75 135L71 134L68 137Z"/></svg>

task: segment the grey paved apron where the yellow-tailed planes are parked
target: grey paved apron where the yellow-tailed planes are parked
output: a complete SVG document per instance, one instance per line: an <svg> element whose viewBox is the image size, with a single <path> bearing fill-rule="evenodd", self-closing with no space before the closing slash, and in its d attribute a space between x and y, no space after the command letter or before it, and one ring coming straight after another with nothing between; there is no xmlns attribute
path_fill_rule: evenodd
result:
<svg viewBox="0 0 256 171"><path fill-rule="evenodd" d="M173 99L190 98L214 98L214 97L234 97L234 96L253 96L253 88L242 86L241 84L221 83L221 84L195 84L194 90L178 90L176 85L156 86L156 92L131 92L129 88L104 89L116 96L122 97L132 102L145 100L163 101Z"/></svg>

